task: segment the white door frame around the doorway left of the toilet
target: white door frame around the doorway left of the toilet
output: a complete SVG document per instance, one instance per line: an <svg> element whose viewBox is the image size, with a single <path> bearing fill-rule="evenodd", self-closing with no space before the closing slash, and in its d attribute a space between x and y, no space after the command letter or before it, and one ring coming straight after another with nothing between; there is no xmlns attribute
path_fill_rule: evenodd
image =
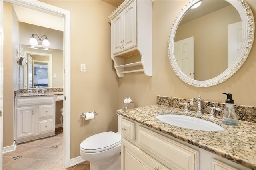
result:
<svg viewBox="0 0 256 170"><path fill-rule="evenodd" d="M1 0L2 1L2 0ZM63 41L63 108L64 108L64 167L70 167L70 11L40 1L4 0L6 2L62 17L64 20ZM1 10L2 11L2 10ZM2 156L1 156L2 157Z"/></svg>

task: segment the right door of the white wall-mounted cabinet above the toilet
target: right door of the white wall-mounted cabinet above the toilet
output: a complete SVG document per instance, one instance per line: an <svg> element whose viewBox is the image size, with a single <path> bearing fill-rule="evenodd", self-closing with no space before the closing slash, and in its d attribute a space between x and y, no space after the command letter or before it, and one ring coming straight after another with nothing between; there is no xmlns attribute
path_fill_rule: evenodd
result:
<svg viewBox="0 0 256 170"><path fill-rule="evenodd" d="M136 14L136 1L132 2L132 4L123 11L123 51L136 47L137 45Z"/></svg>

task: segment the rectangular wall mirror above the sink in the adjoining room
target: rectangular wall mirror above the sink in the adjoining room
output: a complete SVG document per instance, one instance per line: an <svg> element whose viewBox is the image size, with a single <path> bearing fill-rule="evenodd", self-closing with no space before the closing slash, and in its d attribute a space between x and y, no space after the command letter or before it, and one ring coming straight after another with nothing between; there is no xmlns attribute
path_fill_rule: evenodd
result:
<svg viewBox="0 0 256 170"><path fill-rule="evenodd" d="M26 67L20 68L20 84L23 88L63 87L62 50L21 46L28 61Z"/></svg>

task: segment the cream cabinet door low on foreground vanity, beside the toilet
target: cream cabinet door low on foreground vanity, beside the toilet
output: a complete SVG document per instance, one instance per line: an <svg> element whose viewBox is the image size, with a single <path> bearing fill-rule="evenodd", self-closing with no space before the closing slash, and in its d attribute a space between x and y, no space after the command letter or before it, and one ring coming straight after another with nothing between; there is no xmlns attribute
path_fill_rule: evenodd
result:
<svg viewBox="0 0 256 170"><path fill-rule="evenodd" d="M122 138L122 170L160 170L161 163Z"/></svg>

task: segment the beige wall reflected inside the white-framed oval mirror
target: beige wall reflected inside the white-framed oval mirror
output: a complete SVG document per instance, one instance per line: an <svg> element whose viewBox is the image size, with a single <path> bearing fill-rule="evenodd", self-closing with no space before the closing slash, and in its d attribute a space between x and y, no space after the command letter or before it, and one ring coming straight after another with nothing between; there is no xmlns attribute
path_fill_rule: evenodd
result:
<svg viewBox="0 0 256 170"><path fill-rule="evenodd" d="M178 26L175 42L194 37L195 80L212 79L228 68L228 24L239 21L239 13L230 5Z"/></svg>

